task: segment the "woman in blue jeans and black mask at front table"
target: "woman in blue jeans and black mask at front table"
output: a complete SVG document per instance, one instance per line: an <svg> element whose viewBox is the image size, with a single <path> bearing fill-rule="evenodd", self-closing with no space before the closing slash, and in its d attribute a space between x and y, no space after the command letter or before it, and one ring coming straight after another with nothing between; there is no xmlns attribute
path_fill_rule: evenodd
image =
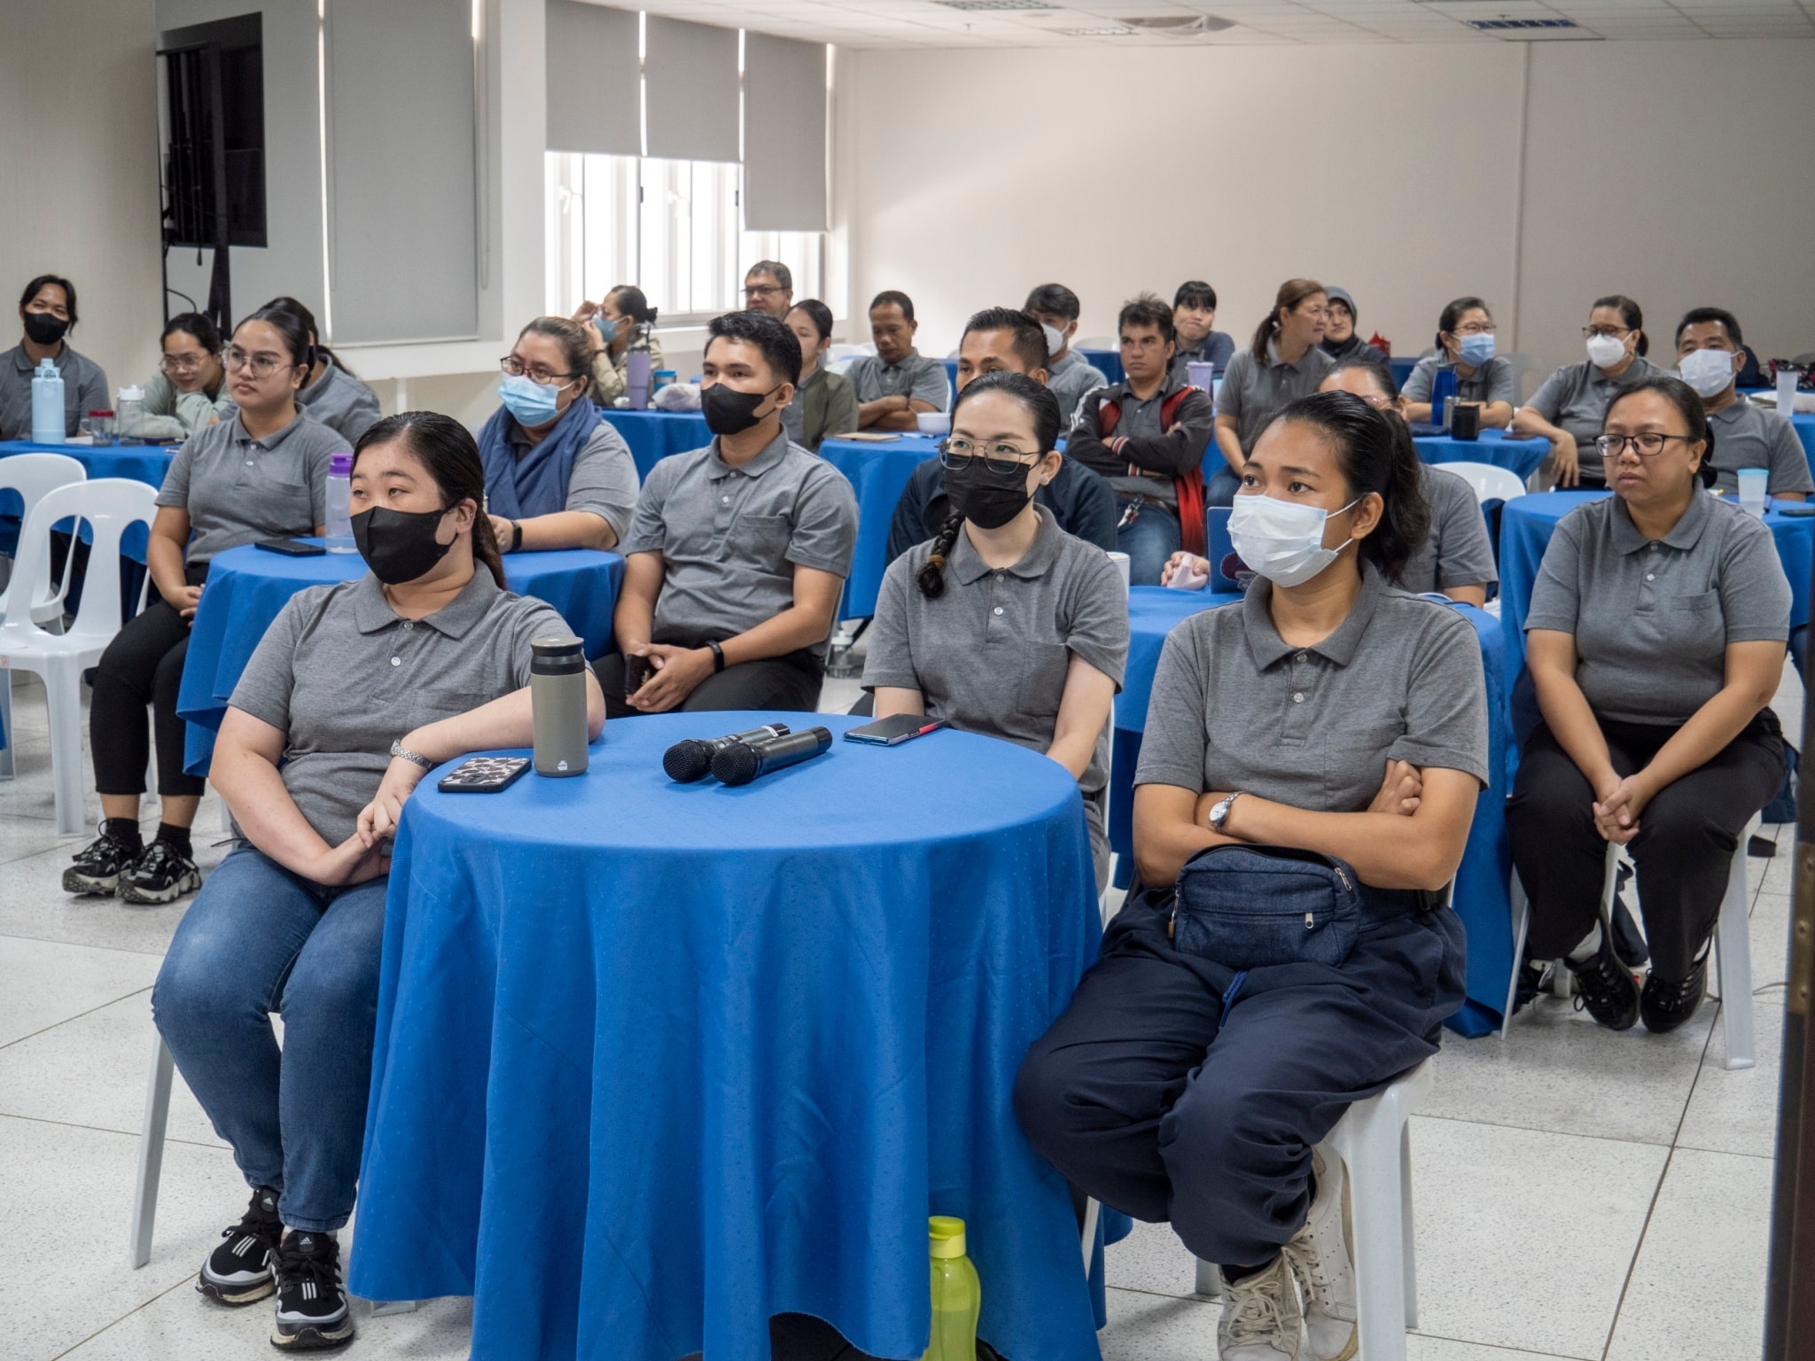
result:
<svg viewBox="0 0 1815 1361"><path fill-rule="evenodd" d="M352 1336L332 1234L359 1176L403 804L445 760L530 746L530 641L570 632L505 590L483 495L479 450L446 416L392 416L359 441L352 524L370 572L294 595L247 662L214 748L243 842L152 989L176 1067L252 1187L196 1288L225 1305L276 1290L281 1346ZM590 675L586 713L597 737Z"/></svg>

